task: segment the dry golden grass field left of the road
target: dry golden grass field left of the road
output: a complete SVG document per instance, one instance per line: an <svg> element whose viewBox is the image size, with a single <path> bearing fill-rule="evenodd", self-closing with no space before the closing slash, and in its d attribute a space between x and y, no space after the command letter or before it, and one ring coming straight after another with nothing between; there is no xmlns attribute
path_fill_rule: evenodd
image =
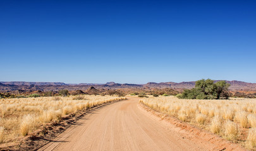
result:
<svg viewBox="0 0 256 151"><path fill-rule="evenodd" d="M70 96L0 99L0 143L26 136L37 127L61 117L111 101L117 96Z"/></svg>

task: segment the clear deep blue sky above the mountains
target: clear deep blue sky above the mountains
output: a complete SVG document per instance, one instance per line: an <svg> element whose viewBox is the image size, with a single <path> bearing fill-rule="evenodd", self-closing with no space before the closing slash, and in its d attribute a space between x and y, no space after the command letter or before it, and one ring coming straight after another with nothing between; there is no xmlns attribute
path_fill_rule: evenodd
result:
<svg viewBox="0 0 256 151"><path fill-rule="evenodd" d="M256 82L256 1L0 1L0 81Z"/></svg>

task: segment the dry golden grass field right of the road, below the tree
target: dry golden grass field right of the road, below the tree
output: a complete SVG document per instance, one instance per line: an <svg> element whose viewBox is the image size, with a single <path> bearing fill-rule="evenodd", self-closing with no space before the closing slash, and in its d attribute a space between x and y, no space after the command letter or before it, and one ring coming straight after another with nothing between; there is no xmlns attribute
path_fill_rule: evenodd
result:
<svg viewBox="0 0 256 151"><path fill-rule="evenodd" d="M256 148L256 99L198 100L160 96L140 99L140 103L252 150Z"/></svg>

